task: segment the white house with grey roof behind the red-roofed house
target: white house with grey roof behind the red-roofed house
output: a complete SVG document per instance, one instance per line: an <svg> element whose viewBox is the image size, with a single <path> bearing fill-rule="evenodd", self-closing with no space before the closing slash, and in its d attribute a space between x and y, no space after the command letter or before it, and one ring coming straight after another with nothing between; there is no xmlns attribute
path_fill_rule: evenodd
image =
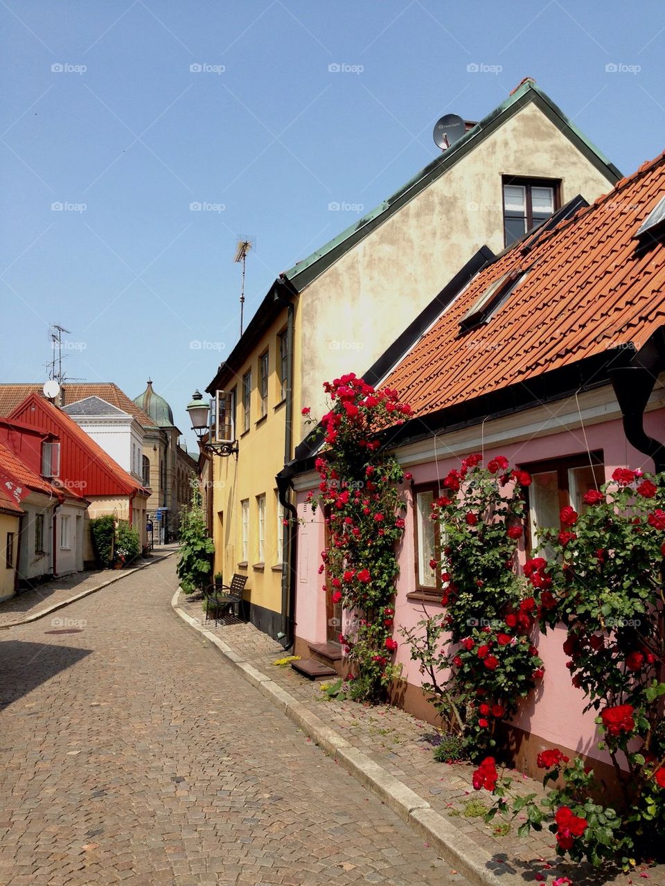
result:
<svg viewBox="0 0 665 886"><path fill-rule="evenodd" d="M114 462L142 480L143 427L134 416L101 397L86 397L62 408L81 431L95 440Z"/></svg>

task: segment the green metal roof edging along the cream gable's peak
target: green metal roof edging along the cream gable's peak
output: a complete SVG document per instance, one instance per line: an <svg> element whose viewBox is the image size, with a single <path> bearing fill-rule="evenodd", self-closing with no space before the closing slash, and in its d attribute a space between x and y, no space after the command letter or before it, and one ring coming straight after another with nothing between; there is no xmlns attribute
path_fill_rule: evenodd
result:
<svg viewBox="0 0 665 886"><path fill-rule="evenodd" d="M362 218L344 229L336 237L333 237L328 243L322 245L320 249L308 255L306 259L298 261L292 268L284 271L282 276L289 279L298 291L302 291L305 286L312 283L317 276L320 276L324 270L327 270L330 265L351 249L352 246L360 242L363 237L366 237L370 231L377 228L390 215L397 212L401 206L404 206L420 194L429 183L435 181L440 175L444 175L449 167L452 167L469 151L473 150L476 144L480 144L494 129L498 128L504 119L509 119L514 113L521 110L524 105L529 104L531 101L537 101L537 99L540 99L545 105L542 108L545 116L554 125L558 126L564 132L564 135L566 135L565 129L569 129L570 133L575 136L571 140L577 140L580 143L580 147L585 155L592 160L594 165L599 168L599 171L605 175L609 174L607 175L608 180L614 179L618 181L622 177L619 169L610 162L604 153L599 151L590 139L584 136L584 133L571 120L568 120L561 108L554 104L552 99L537 86L536 82L526 78L505 101L483 117L483 120L477 122L476 126L469 129L458 142L448 148L440 157L433 159L426 167L423 167L405 185L396 190L389 198L383 200L379 206L375 206L373 210L363 215ZM326 259L328 260L324 261ZM320 261L321 268L313 271L313 266ZM309 273L307 273L308 271Z"/></svg>

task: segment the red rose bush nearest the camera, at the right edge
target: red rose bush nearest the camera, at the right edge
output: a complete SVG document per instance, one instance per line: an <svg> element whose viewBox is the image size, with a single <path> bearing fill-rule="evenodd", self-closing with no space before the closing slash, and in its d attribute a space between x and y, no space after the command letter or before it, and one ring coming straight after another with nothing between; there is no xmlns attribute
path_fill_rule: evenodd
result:
<svg viewBox="0 0 665 886"><path fill-rule="evenodd" d="M592 770L561 750L544 751L538 765L548 770L545 783L557 774L565 783L546 800L554 812L550 829L561 853L593 864L662 855L665 477L617 468L609 483L584 494L584 512L567 506L560 519L560 527L540 533L551 556L531 559L524 573L541 631L566 626L570 680L584 692L585 710L598 714L599 749L614 764L623 803L618 813L594 804ZM493 789L495 811L507 810L503 789L500 781ZM522 828L540 827L532 798L512 808L528 812Z"/></svg>

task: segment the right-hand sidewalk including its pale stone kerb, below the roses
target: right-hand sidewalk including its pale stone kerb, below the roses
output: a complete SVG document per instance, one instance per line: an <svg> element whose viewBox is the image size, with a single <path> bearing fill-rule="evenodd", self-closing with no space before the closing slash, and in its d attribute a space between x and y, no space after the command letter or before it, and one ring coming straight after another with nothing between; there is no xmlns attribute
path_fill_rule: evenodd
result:
<svg viewBox="0 0 665 886"><path fill-rule="evenodd" d="M177 603L174 598L173 605L189 616L186 620L190 624L193 621L192 626L197 630L205 631L209 638L219 638L221 651L236 663L245 678L259 685L275 703L280 703L306 734L334 754L337 762L367 787L382 793L384 781L391 782L390 776L397 779L397 784L406 788L406 805L402 804L397 811L400 814L406 812L407 820L424 834L424 839L432 840L444 857L455 867L460 867L461 873L476 886L509 881L536 882L540 874L547 882L568 876L574 886L600 886L607 882L614 886L630 886L639 878L648 879L654 886L665 886L665 865L640 866L629 875L599 871L558 858L554 836L546 827L539 834L531 831L522 839L517 835L521 819L509 823L497 816L486 825L483 804L489 807L491 797L487 791L472 788L471 773L476 766L435 762L432 752L437 743L437 732L429 723L387 705L329 701L321 691L321 682L305 680L289 665L273 664L288 653L267 634L251 625L215 627L213 621L205 623L202 602L192 601L183 594ZM266 686L261 687L262 677L272 680L279 689L268 691ZM355 763L352 754L342 750L346 742L355 749ZM362 765L361 758L367 761L367 766ZM519 783L520 793L522 790L524 793L543 793L540 782L520 773L509 774L514 777L515 784ZM392 781L392 784L394 786L396 782ZM394 789L391 791L395 794ZM390 803L390 797L384 799ZM413 812L409 812L409 807ZM423 807L430 807L429 812ZM438 814L432 815L431 812ZM429 833L427 828L422 828L423 824L432 825Z"/></svg>

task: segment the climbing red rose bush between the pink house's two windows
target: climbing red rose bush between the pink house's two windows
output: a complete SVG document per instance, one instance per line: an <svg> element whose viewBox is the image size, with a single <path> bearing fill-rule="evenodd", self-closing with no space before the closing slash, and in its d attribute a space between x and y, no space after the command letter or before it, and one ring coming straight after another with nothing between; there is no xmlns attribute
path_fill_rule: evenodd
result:
<svg viewBox="0 0 665 886"><path fill-rule="evenodd" d="M544 673L532 637L537 603L514 570L530 476L501 455L482 462L468 455L441 481L431 518L442 550L430 566L445 609L427 614L423 606L426 617L403 632L429 701L446 732L464 736L471 758L498 744L499 724Z"/></svg>

